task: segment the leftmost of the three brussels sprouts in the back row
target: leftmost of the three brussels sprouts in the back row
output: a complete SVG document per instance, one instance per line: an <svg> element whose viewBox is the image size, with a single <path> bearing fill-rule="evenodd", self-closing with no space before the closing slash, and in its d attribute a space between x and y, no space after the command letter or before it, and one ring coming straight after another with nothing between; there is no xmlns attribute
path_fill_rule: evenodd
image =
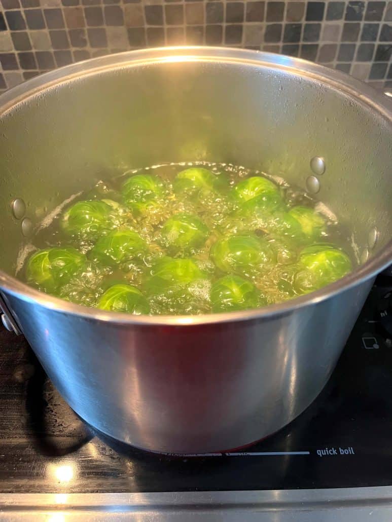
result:
<svg viewBox="0 0 392 522"><path fill-rule="evenodd" d="M136 174L122 185L122 196L129 206L160 199L164 195L164 185L158 176L151 174ZM143 206L140 206L142 208ZM137 208L137 205L136 207Z"/></svg>

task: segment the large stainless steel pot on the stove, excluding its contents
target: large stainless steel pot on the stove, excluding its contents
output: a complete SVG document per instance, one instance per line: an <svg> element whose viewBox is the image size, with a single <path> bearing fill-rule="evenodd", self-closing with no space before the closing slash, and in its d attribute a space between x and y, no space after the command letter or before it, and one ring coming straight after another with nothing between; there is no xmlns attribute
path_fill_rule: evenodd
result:
<svg viewBox="0 0 392 522"><path fill-rule="evenodd" d="M246 445L301 413L392 258L388 103L302 60L211 48L98 58L3 94L3 307L71 407L119 440L175 453ZM314 157L324 173L317 160L312 171ZM189 160L319 189L353 230L363 264L293 301L197 317L106 313L15 279L31 226L65 198L127 168Z"/></svg>

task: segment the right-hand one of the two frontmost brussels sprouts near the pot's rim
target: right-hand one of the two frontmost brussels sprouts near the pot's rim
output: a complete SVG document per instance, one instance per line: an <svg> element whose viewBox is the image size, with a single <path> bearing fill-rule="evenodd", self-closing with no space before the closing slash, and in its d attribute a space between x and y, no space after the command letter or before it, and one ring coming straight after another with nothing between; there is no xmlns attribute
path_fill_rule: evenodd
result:
<svg viewBox="0 0 392 522"><path fill-rule="evenodd" d="M252 283L233 275L221 277L213 283L211 303L213 312L247 310L266 304Z"/></svg>

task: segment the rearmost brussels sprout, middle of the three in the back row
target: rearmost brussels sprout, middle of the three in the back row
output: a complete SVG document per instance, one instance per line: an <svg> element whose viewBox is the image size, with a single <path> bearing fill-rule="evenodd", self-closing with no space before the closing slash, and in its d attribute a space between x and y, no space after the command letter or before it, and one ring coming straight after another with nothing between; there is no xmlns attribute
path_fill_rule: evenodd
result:
<svg viewBox="0 0 392 522"><path fill-rule="evenodd" d="M174 191L177 194L202 195L219 192L227 186L223 175L213 174L201 167L192 167L179 172L174 180Z"/></svg>

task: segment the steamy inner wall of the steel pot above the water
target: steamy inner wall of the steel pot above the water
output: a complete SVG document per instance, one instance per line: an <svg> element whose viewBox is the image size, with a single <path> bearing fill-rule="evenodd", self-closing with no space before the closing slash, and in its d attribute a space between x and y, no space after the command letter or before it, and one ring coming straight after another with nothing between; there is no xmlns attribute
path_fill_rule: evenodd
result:
<svg viewBox="0 0 392 522"><path fill-rule="evenodd" d="M64 80L0 114L0 268L14 274L22 242L14 198L36 224L99 179L170 161L232 162L305 188L322 156L317 198L362 247L377 226L380 248L392 231L391 136L365 103L262 65L122 65Z"/></svg>

